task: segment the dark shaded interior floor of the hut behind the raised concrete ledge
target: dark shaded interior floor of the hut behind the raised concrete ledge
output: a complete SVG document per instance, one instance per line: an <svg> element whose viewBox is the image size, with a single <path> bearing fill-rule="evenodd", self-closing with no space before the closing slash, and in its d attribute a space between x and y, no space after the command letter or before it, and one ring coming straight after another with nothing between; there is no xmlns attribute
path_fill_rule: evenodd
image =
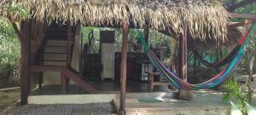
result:
<svg viewBox="0 0 256 115"><path fill-rule="evenodd" d="M120 90L119 83L114 81L94 81L90 84L99 90L100 94L118 94ZM171 91L168 86L154 86L154 91ZM149 83L145 82L134 82L127 81L126 92L136 93L136 92L149 92ZM80 89L78 86L71 84L68 86L67 95L82 95L87 94ZM31 95L62 95L61 85L44 85L43 89L35 89L32 91Z"/></svg>

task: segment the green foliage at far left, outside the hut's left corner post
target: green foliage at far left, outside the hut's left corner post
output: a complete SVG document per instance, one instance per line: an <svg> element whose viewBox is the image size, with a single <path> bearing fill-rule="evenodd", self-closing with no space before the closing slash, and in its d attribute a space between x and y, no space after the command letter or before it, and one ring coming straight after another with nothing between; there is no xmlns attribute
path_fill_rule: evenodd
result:
<svg viewBox="0 0 256 115"><path fill-rule="evenodd" d="M8 20L0 19L0 89L18 85L20 42Z"/></svg>

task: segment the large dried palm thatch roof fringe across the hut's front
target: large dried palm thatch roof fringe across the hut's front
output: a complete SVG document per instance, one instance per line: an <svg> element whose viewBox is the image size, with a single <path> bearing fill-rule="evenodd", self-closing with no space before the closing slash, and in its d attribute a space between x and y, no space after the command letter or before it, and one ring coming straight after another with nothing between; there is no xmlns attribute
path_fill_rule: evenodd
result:
<svg viewBox="0 0 256 115"><path fill-rule="evenodd" d="M64 20L89 26L121 25L125 21L143 28L172 30L183 34L183 24L189 26L192 37L224 41L228 14L217 0L3 0L2 6L12 3L28 9L36 20ZM3 15L9 14L3 12ZM19 14L10 14L20 19Z"/></svg>

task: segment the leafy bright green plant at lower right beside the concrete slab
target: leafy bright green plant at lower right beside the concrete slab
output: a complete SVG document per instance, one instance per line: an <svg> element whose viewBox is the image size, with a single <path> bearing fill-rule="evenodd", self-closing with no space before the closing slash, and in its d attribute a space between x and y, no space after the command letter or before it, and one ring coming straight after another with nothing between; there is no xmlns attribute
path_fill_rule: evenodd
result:
<svg viewBox="0 0 256 115"><path fill-rule="evenodd" d="M230 100L236 101L241 112L247 114L244 102L251 103L253 97L253 89L249 81L241 84L238 83L236 76L232 76L220 88L225 92L223 96L224 102L229 102Z"/></svg>

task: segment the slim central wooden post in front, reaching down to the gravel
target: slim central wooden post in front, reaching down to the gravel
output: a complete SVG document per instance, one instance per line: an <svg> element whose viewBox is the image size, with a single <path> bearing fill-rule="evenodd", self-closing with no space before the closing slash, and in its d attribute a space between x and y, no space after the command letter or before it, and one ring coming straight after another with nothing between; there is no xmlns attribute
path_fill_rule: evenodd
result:
<svg viewBox="0 0 256 115"><path fill-rule="evenodd" d="M123 44L121 55L121 79L120 79L120 108L119 114L125 115L125 90L126 90L126 62L127 62L127 43L128 43L129 25L123 24Z"/></svg>

